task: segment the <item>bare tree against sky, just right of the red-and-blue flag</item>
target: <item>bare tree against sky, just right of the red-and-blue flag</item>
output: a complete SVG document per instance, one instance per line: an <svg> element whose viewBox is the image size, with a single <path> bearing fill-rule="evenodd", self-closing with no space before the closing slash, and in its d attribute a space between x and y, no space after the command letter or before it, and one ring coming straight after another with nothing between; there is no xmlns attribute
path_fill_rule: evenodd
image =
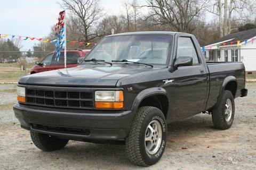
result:
<svg viewBox="0 0 256 170"><path fill-rule="evenodd" d="M81 34L85 42L89 42L99 35L90 30L102 16L99 0L62 0L60 6L77 17L81 24Z"/></svg>

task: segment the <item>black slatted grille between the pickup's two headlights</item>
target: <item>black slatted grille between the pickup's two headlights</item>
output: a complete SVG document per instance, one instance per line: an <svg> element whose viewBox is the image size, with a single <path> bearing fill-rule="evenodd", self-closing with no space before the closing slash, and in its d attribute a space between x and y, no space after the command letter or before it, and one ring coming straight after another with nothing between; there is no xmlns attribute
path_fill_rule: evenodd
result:
<svg viewBox="0 0 256 170"><path fill-rule="evenodd" d="M93 108L93 92L90 89L83 89L82 92L63 90L26 89L26 103L59 108Z"/></svg>

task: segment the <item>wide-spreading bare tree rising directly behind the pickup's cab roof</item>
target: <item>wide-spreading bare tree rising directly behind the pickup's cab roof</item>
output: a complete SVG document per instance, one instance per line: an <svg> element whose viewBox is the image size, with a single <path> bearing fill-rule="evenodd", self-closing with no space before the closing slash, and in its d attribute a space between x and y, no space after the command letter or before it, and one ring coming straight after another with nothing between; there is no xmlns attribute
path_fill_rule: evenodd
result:
<svg viewBox="0 0 256 170"><path fill-rule="evenodd" d="M201 17L209 0L146 0L149 17L159 24L167 24L173 31L191 33L193 22Z"/></svg>

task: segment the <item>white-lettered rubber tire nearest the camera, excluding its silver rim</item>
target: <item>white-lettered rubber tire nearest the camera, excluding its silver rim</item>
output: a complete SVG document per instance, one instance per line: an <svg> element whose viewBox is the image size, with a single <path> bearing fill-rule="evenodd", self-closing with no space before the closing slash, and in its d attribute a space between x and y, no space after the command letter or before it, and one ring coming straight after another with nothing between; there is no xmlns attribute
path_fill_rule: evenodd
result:
<svg viewBox="0 0 256 170"><path fill-rule="evenodd" d="M162 128L162 140L154 155L146 150L145 135L151 121L158 121ZM129 135L125 140L126 153L129 160L139 166L150 166L162 157L166 146L167 126L164 114L156 107L143 106L137 111Z"/></svg>

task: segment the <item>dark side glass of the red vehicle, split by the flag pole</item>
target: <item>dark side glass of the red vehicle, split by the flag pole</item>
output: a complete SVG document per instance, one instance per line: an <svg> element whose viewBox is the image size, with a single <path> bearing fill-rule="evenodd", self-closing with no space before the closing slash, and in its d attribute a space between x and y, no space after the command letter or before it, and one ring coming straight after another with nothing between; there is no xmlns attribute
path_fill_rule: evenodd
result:
<svg viewBox="0 0 256 170"><path fill-rule="evenodd" d="M67 52L67 64L77 64L77 60L79 58L79 54L73 52ZM64 64L64 52L60 53L59 62L56 60L55 55L53 57L54 65Z"/></svg>

